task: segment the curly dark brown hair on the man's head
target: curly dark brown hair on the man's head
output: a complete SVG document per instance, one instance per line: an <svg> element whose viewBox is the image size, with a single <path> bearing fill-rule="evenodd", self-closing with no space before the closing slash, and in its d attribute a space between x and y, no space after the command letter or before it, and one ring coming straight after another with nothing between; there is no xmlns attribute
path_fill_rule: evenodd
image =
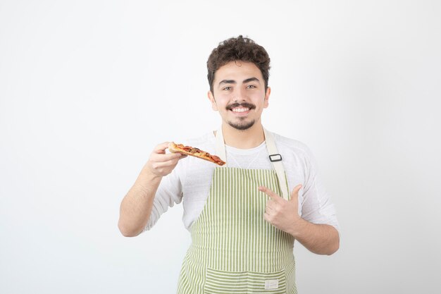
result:
<svg viewBox="0 0 441 294"><path fill-rule="evenodd" d="M254 63L261 71L265 81L265 90L268 88L268 78L270 77L270 56L265 48L256 44L247 37L232 37L219 43L218 47L211 51L209 60L206 61L206 68L209 71L210 91L213 92L214 74L221 67L230 61L246 61Z"/></svg>

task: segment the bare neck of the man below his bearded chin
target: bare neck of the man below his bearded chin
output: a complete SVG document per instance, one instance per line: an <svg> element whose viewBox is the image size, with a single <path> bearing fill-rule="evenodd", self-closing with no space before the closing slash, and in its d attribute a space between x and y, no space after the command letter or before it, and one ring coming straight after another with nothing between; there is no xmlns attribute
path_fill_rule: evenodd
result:
<svg viewBox="0 0 441 294"><path fill-rule="evenodd" d="M238 149L250 149L261 145L265 141L263 127L259 122L247 130L237 130L227 123L222 124L223 140L225 144Z"/></svg>

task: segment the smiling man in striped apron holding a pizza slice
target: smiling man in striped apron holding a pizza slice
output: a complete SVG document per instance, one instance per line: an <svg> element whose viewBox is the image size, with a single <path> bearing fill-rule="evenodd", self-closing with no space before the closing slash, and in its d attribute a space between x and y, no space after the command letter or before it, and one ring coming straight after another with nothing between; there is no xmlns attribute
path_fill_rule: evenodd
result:
<svg viewBox="0 0 441 294"><path fill-rule="evenodd" d="M227 39L207 68L222 125L186 143L226 166L169 154L168 142L156 146L121 203L118 226L138 235L182 201L192 245L178 293L297 293L294 239L316 254L337 251L333 204L309 149L262 126L271 94L266 50L242 36Z"/></svg>

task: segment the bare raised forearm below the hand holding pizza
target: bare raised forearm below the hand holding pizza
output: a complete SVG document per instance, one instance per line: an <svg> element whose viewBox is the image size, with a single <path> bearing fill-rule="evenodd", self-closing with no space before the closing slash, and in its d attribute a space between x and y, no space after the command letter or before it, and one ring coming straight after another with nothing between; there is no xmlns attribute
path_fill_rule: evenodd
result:
<svg viewBox="0 0 441 294"><path fill-rule="evenodd" d="M118 228L126 237L142 232L149 221L153 200L161 183L161 176L143 169L120 205Z"/></svg>

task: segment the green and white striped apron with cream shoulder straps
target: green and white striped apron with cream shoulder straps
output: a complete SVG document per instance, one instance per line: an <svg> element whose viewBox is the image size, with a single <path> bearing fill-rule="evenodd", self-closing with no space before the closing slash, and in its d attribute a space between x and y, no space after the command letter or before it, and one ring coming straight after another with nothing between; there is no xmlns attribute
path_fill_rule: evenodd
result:
<svg viewBox="0 0 441 294"><path fill-rule="evenodd" d="M265 131L265 136L274 154L272 135ZM221 142L216 152L225 160L219 130L216 140ZM215 168L205 207L190 227L192 245L182 264L179 294L297 293L294 238L263 219L269 197L258 190L263 185L288 197L278 178L274 170ZM285 175L280 182L287 190Z"/></svg>

